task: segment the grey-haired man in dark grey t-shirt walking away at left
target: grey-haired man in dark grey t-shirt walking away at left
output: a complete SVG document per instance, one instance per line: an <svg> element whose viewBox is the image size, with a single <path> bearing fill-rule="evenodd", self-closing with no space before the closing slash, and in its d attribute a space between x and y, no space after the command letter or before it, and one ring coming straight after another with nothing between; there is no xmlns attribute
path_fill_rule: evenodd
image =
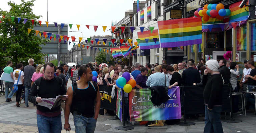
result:
<svg viewBox="0 0 256 133"><path fill-rule="evenodd" d="M28 94L31 88L31 78L35 72L35 67L33 67L34 59L28 59L28 65L24 67L24 85L25 85L25 106L28 107ZM35 104L34 104L35 105Z"/></svg>

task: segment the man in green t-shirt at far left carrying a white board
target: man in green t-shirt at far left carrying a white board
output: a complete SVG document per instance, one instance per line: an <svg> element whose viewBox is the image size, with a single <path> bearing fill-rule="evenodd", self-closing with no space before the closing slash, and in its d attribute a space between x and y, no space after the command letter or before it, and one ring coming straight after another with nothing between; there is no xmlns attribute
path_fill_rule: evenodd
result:
<svg viewBox="0 0 256 133"><path fill-rule="evenodd" d="M11 78L13 79L13 68L11 67L12 66L12 61L7 61L7 67L4 68L4 73L6 74L10 74ZM5 81L4 82L4 85L5 85L5 102L9 102L11 101L11 97L14 95L14 93L12 93L12 90L10 92L10 94L8 95L8 92L9 92L9 88L12 89L13 85L14 85L14 82L8 82L8 81Z"/></svg>

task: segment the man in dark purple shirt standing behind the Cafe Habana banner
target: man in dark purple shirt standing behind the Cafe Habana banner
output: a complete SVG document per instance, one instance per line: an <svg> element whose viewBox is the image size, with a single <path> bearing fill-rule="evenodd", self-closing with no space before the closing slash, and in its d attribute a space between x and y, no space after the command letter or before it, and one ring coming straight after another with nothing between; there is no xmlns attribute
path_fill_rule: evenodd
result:
<svg viewBox="0 0 256 133"><path fill-rule="evenodd" d="M146 75L148 74L148 69L147 68L142 68L140 70L140 74L137 75L136 78L136 88L137 89L143 89L143 88L148 88L148 86L146 85L146 82L148 80L148 78L146 77Z"/></svg>

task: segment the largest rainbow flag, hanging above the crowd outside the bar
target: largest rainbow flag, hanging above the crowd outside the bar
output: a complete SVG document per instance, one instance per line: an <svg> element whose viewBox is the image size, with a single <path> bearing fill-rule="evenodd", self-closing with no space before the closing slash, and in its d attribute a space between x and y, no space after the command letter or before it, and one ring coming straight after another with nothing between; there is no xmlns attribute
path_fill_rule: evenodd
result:
<svg viewBox="0 0 256 133"><path fill-rule="evenodd" d="M162 48L202 43L201 17L158 21L157 24Z"/></svg>

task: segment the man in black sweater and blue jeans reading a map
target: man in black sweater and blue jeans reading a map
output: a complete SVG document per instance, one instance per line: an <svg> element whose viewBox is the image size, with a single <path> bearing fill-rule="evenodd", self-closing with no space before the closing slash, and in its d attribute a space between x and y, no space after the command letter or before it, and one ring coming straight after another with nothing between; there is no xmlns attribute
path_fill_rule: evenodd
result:
<svg viewBox="0 0 256 133"><path fill-rule="evenodd" d="M65 95L67 91L63 80L54 76L53 63L46 63L43 71L45 75L35 80L28 95L28 100L36 104L39 133L60 133L62 129L60 104L55 107L52 106L50 109L39 105L39 103L43 102L43 98L55 98L58 95ZM62 100L65 101L66 99L67 97L62 97Z"/></svg>

